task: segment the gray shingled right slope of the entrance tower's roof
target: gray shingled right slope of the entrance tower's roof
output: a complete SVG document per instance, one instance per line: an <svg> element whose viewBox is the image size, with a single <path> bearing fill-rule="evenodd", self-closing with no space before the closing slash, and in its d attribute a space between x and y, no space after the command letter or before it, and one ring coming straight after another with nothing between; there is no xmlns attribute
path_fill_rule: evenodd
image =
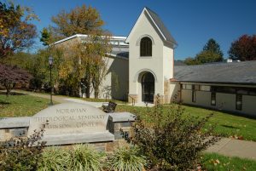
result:
<svg viewBox="0 0 256 171"><path fill-rule="evenodd" d="M160 17L158 14L155 14L151 9L146 8L148 11L148 14L152 17L154 20L154 23L159 27L160 31L163 33L163 35L166 37L166 41L172 42L177 45L176 40L172 37L171 33L168 31L162 20L160 20Z"/></svg>

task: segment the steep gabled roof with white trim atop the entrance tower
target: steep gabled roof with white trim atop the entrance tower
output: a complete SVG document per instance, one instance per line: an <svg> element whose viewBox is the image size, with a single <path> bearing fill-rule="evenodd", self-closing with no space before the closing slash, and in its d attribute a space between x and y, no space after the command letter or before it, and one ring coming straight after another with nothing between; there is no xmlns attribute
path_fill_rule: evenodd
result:
<svg viewBox="0 0 256 171"><path fill-rule="evenodd" d="M152 23L154 23L154 26L156 27L156 31L158 31L160 33L160 35L164 41L177 45L176 40L172 37L170 31L168 31L168 29L166 28L166 26L164 25L162 20L160 20L160 17L158 16L158 14L154 13L151 9L144 8L143 12L140 14L137 21L141 18L142 14L148 15L148 19L151 20ZM137 26L137 21L136 21L135 25L132 27L132 29L125 41L126 43L129 43L129 37L130 37L132 31L134 30L134 28Z"/></svg>

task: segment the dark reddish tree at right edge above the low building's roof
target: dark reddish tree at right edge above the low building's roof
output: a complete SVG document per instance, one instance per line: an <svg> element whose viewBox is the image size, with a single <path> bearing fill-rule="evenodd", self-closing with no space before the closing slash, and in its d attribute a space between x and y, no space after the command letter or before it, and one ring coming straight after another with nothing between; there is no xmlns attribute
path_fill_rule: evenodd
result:
<svg viewBox="0 0 256 171"><path fill-rule="evenodd" d="M256 60L256 35L243 35L231 43L229 50L232 60Z"/></svg>

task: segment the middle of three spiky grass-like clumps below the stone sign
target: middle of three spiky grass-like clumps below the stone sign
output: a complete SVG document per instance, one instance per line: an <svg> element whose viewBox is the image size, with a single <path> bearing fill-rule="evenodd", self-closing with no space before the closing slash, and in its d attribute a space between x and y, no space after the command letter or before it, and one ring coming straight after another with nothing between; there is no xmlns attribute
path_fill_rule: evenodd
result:
<svg viewBox="0 0 256 171"><path fill-rule="evenodd" d="M89 145L73 145L70 155L70 170L100 171L104 166L104 153L96 151Z"/></svg>

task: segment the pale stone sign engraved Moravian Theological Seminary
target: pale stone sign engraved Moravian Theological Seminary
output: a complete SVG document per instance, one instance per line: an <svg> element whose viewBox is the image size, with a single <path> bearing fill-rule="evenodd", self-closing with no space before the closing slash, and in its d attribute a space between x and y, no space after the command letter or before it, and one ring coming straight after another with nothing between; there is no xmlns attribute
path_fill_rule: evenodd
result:
<svg viewBox="0 0 256 171"><path fill-rule="evenodd" d="M90 142L90 137L113 140L107 130L108 114L91 105L64 103L39 111L30 118L27 135L39 130L44 123L47 124L43 140L52 141L48 145L61 144L62 141L62 144Z"/></svg>

